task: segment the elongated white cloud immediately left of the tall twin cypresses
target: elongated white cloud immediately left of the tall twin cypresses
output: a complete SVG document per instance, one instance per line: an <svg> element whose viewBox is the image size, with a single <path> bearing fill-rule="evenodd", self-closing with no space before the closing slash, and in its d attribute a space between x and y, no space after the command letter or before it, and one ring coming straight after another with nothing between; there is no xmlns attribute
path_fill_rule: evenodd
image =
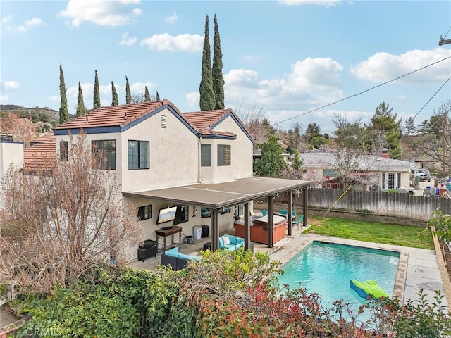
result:
<svg viewBox="0 0 451 338"><path fill-rule="evenodd" d="M141 46L149 46L156 51L187 51L190 53L202 51L204 37L198 34L180 34L175 37L168 33L147 37L141 42Z"/></svg>

